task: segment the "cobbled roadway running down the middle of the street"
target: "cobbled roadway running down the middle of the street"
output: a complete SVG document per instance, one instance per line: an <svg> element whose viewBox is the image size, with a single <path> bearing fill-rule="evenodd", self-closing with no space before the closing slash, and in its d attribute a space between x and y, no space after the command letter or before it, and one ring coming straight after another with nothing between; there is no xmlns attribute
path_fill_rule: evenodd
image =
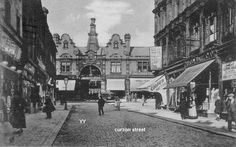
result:
<svg viewBox="0 0 236 147"><path fill-rule="evenodd" d="M126 110L116 111L111 105L106 105L105 115L99 116L97 104L81 103L71 111L53 145L233 147L236 141Z"/></svg>

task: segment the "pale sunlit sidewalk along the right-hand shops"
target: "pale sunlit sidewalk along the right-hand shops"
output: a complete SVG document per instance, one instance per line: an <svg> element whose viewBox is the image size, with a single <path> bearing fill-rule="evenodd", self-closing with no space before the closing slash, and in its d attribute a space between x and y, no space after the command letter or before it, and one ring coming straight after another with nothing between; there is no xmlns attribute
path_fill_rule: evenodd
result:
<svg viewBox="0 0 236 147"><path fill-rule="evenodd" d="M216 117L214 116L182 120L179 113L164 109L156 110L154 99L148 99L147 103L145 103L144 106L142 106L140 100L138 100L137 102L122 101L121 109L122 108L128 109L129 111L142 113L152 117L158 117L167 121L201 129L214 134L236 138L236 133L229 132L227 130L227 122L225 120L217 121Z"/></svg>

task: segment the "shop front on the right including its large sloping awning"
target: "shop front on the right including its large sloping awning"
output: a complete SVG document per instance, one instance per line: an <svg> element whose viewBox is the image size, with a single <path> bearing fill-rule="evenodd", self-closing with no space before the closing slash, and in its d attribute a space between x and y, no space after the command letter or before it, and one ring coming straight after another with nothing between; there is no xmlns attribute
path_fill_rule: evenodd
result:
<svg viewBox="0 0 236 147"><path fill-rule="evenodd" d="M199 114L214 113L214 103L219 97L218 86L218 67L215 60L193 65L186 68L173 82L169 83L166 88L176 91L177 107L181 103L181 97L184 95L181 91L184 87L187 90L187 103L191 102L191 95L194 93L194 102ZM194 88L190 87L192 83Z"/></svg>

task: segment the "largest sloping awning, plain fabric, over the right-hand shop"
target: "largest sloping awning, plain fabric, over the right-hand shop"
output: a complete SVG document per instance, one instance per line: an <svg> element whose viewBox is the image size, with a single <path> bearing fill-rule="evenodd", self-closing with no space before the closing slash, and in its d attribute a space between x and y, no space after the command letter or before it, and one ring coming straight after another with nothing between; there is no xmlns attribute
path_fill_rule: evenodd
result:
<svg viewBox="0 0 236 147"><path fill-rule="evenodd" d="M197 77L202 71L204 71L215 60L210 60L192 67L185 69L172 83L167 85L166 88L175 88L187 86L195 77Z"/></svg>

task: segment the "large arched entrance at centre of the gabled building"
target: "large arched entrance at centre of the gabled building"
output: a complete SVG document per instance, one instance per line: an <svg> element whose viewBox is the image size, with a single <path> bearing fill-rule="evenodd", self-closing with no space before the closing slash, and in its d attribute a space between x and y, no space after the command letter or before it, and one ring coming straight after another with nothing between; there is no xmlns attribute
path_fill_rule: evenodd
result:
<svg viewBox="0 0 236 147"><path fill-rule="evenodd" d="M80 72L79 95L85 100L98 99L101 92L101 71L95 65L87 65Z"/></svg>

